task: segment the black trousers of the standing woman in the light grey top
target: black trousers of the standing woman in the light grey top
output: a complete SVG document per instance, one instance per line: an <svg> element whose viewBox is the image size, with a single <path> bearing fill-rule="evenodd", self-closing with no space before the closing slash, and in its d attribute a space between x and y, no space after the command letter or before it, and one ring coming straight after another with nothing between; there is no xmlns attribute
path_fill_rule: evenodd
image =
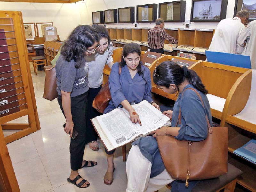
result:
<svg viewBox="0 0 256 192"><path fill-rule="evenodd" d="M97 141L98 135L92 125L91 119L102 114L92 107L92 102L95 96L100 91L101 87L102 86L95 89L89 88L88 102L87 102L87 108L86 108L86 140L87 142Z"/></svg>

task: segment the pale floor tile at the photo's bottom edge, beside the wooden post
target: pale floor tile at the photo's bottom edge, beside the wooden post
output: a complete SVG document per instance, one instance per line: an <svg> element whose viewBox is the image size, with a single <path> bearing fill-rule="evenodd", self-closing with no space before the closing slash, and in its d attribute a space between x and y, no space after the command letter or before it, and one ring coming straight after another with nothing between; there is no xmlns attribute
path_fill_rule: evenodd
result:
<svg viewBox="0 0 256 192"><path fill-rule="evenodd" d="M20 192L45 192L52 189L39 157L13 165Z"/></svg>

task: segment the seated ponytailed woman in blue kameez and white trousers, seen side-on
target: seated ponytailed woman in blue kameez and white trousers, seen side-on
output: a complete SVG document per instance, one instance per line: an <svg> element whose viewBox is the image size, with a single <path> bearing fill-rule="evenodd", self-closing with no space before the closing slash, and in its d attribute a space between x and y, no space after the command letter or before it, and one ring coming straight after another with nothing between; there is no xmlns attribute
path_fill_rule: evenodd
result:
<svg viewBox="0 0 256 192"><path fill-rule="evenodd" d="M154 83L164 92L179 92L173 111L163 113L172 119L171 127L161 127L153 136L141 137L132 143L126 164L126 192L154 192L172 182L172 192L191 191L197 181L190 181L185 187L183 181L171 178L164 167L156 141L157 135L172 135L178 140L201 141L207 138L208 127L205 116L212 123L211 108L206 97L207 90L195 71L180 67L172 61L165 61L153 73ZM204 106L196 92L203 99ZM181 124L176 122L181 108ZM173 182L174 181L174 182Z"/></svg>

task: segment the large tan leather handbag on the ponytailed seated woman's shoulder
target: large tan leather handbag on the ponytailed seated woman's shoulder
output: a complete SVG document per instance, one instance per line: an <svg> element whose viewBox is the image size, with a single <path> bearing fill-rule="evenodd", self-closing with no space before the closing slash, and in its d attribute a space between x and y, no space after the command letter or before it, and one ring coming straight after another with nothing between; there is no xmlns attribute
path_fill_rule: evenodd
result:
<svg viewBox="0 0 256 192"><path fill-rule="evenodd" d="M188 89L195 91L203 103L195 89ZM157 136L167 172L173 179L186 180L186 186L188 180L210 179L228 172L228 128L211 127L207 115L206 120L209 134L203 141L177 140L171 135ZM181 109L176 126L178 121L181 124Z"/></svg>

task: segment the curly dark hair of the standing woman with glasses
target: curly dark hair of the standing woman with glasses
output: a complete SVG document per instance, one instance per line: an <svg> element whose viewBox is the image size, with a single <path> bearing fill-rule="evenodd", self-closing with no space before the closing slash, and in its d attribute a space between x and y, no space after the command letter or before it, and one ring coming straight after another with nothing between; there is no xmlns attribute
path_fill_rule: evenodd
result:
<svg viewBox="0 0 256 192"><path fill-rule="evenodd" d="M84 52L95 42L99 41L96 30L89 25L77 26L69 35L68 40L62 45L61 54L65 60L76 62L75 67L79 68L82 63L79 61L84 58Z"/></svg>

